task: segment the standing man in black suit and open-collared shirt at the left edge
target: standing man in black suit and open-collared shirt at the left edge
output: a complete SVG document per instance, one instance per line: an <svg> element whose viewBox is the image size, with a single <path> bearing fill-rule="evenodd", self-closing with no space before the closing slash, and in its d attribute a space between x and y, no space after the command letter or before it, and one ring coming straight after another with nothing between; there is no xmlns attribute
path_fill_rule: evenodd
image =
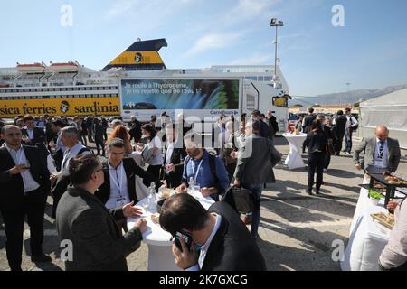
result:
<svg viewBox="0 0 407 289"><path fill-rule="evenodd" d="M2 128L5 144L0 148L0 211L5 222L8 264L21 271L24 219L30 226L33 262L49 262L43 254L43 214L50 191L50 172L40 150L21 144L18 126Z"/></svg>

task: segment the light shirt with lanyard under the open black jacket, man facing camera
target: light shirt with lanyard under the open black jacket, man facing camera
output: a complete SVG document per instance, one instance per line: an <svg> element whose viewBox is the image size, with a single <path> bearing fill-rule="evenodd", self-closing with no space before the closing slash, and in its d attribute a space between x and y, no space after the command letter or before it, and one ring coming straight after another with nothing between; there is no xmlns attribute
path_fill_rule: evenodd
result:
<svg viewBox="0 0 407 289"><path fill-rule="evenodd" d="M128 178L124 170L123 162L121 162L115 169L109 165L109 177L110 177L110 196L106 202L106 208L115 209L122 207L130 202L128 196Z"/></svg>

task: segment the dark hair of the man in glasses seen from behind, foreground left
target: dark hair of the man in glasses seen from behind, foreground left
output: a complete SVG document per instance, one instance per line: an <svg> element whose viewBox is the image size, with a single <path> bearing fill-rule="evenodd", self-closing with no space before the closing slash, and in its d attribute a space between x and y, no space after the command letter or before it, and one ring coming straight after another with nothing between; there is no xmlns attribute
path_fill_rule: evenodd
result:
<svg viewBox="0 0 407 289"><path fill-rule="evenodd" d="M69 164L72 184L88 182L99 163L98 157L94 154L78 155L72 158Z"/></svg>

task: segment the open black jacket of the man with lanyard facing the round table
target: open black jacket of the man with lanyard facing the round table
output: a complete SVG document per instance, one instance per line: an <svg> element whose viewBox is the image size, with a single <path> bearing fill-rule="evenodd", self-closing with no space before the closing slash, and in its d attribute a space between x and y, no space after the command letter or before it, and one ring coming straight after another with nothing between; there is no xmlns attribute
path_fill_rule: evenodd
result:
<svg viewBox="0 0 407 289"><path fill-rule="evenodd" d="M95 196L97 196L103 204L106 204L110 196L110 174L108 162L109 161L105 161L102 163L103 173L105 174L105 182L103 182L98 191L95 193ZM136 193L136 175L143 179L143 183L147 187L150 186L151 182L156 182L156 191L160 186L163 185L162 182L156 180L154 175L140 168L132 158L124 158L123 167L126 172L126 179L128 181L128 197L130 198L130 201L134 200L135 204L138 201Z"/></svg>

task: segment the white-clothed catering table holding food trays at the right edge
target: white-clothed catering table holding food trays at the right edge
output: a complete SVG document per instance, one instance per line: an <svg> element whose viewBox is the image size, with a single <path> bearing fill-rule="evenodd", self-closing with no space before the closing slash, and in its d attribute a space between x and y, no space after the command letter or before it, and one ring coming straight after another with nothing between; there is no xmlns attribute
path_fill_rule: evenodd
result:
<svg viewBox="0 0 407 289"><path fill-rule="evenodd" d="M368 181L364 181L368 183ZM341 262L343 271L377 271L377 262L387 245L391 230L374 221L373 213L387 214L384 200L377 205L368 197L368 190L362 188L357 201L354 219L349 230L349 241ZM396 193L396 196L399 196Z"/></svg>

